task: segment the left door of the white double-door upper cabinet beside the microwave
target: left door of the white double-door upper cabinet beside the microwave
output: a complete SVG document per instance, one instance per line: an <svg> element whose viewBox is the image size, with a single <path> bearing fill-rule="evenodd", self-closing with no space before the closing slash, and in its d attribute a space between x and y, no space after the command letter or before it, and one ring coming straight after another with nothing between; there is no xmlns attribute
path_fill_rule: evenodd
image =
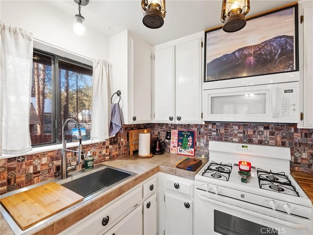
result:
<svg viewBox="0 0 313 235"><path fill-rule="evenodd" d="M155 50L154 120L175 122L174 46Z"/></svg>

